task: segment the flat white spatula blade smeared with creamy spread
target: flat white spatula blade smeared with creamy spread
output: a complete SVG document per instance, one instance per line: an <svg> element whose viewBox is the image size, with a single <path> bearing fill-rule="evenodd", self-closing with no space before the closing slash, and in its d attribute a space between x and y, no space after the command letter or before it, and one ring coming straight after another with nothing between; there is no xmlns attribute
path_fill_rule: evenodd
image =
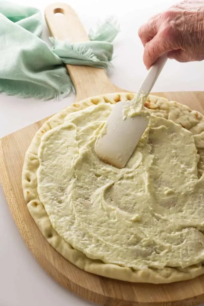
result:
<svg viewBox="0 0 204 306"><path fill-rule="evenodd" d="M106 131L95 142L100 160L122 169L130 159L148 120L140 115L123 119L123 107L129 102L118 102L107 119Z"/></svg>

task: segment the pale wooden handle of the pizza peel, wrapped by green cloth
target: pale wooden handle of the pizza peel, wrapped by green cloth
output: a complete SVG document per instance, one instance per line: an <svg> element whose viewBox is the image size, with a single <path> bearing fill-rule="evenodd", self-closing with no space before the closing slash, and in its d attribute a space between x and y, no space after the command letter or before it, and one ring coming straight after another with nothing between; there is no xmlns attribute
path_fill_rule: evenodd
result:
<svg viewBox="0 0 204 306"><path fill-rule="evenodd" d="M47 6L45 20L52 36L59 40L69 39L72 43L89 41L89 36L74 9L65 3L57 2ZM77 101L118 91L104 69L79 65L66 65L66 68L75 85Z"/></svg>

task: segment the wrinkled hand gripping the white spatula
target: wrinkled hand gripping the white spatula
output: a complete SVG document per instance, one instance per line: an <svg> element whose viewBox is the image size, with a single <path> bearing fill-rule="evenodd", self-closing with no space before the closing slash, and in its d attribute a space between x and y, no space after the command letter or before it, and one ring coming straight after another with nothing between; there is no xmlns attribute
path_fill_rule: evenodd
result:
<svg viewBox="0 0 204 306"><path fill-rule="evenodd" d="M179 62L204 59L204 0L183 1L139 28L147 69L164 53Z"/></svg>

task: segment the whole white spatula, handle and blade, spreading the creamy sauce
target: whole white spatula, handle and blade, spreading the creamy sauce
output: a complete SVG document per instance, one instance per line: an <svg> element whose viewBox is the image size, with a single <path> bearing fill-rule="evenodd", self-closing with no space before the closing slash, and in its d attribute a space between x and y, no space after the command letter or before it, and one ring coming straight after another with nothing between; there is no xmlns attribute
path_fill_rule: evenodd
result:
<svg viewBox="0 0 204 306"><path fill-rule="evenodd" d="M167 56L164 54L149 69L148 75L137 92L137 95L143 94L143 103L146 101L166 60ZM148 125L148 121L140 115L123 119L123 107L127 103L131 103L131 101L121 101L115 104L107 119L106 132L99 136L95 143L95 152L98 158L119 169L126 166Z"/></svg>

